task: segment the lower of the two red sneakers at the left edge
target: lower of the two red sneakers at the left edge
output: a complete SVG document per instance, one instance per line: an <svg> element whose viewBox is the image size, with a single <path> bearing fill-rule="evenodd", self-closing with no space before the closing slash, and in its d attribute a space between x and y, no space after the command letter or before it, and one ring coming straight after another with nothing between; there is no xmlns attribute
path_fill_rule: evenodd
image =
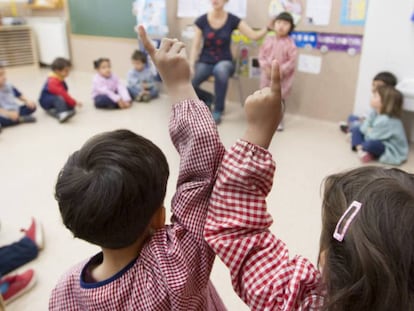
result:
<svg viewBox="0 0 414 311"><path fill-rule="evenodd" d="M0 280L1 296L7 305L29 291L36 283L33 269L21 274L6 276Z"/></svg>

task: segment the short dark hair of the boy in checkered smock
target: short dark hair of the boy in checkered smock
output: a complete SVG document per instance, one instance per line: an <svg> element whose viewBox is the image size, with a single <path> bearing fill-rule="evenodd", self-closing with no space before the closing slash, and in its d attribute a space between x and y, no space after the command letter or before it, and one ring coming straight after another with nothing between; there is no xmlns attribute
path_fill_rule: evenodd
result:
<svg viewBox="0 0 414 311"><path fill-rule="evenodd" d="M61 170L55 197L75 237L105 248L131 245L162 206L169 175L162 151L128 130L96 135Z"/></svg>

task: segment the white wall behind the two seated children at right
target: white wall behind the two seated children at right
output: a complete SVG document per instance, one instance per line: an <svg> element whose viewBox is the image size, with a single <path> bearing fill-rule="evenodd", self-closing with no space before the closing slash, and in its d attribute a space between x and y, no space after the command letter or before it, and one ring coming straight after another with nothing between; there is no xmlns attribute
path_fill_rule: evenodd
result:
<svg viewBox="0 0 414 311"><path fill-rule="evenodd" d="M366 114L372 78L384 70L399 81L414 78L414 0L370 0L365 25L354 112ZM414 139L414 115L410 119Z"/></svg>

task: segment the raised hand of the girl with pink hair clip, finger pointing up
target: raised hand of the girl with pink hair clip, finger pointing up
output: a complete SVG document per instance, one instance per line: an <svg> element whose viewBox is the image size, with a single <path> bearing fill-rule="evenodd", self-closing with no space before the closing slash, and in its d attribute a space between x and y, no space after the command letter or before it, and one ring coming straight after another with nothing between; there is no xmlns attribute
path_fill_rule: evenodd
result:
<svg viewBox="0 0 414 311"><path fill-rule="evenodd" d="M268 148L282 118L280 71L277 61L272 63L270 87L256 91L247 97L244 111L247 130L243 139Z"/></svg>

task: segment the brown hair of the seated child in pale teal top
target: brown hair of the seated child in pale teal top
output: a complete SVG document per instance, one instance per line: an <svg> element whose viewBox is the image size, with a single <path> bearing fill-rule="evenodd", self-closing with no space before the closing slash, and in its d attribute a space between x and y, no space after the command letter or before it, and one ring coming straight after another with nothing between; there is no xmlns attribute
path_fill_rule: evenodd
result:
<svg viewBox="0 0 414 311"><path fill-rule="evenodd" d="M401 92L386 85L378 87L376 92L381 98L380 113L395 118L401 117L404 98Z"/></svg>

